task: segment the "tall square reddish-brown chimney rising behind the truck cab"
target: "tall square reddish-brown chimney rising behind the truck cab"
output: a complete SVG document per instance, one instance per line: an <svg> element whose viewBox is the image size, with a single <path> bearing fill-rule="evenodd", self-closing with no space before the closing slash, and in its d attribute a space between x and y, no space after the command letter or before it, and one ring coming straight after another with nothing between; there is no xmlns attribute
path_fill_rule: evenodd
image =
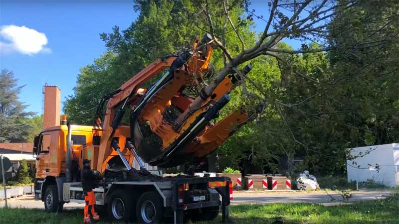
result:
<svg viewBox="0 0 399 224"><path fill-rule="evenodd" d="M59 125L61 90L57 86L44 87L43 128Z"/></svg>

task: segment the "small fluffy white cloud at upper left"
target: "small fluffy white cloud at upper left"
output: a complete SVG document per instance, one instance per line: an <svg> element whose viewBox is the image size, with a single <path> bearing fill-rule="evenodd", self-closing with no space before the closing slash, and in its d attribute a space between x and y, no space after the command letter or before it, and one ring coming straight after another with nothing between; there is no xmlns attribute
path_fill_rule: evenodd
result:
<svg viewBox="0 0 399 224"><path fill-rule="evenodd" d="M39 52L51 52L51 49L46 47L46 34L26 26L1 26L0 36L9 41L8 43L0 41L0 51L2 53L17 51L22 54L32 55Z"/></svg>

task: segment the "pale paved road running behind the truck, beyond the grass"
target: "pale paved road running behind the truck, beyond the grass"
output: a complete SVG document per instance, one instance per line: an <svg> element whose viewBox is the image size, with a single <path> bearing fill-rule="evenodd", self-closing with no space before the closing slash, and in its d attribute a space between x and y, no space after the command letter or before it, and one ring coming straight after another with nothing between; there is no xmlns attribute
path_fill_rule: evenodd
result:
<svg viewBox="0 0 399 224"><path fill-rule="evenodd" d="M359 191L353 192L351 201L373 200L376 198L387 197L389 191ZM341 196L337 193L330 193L336 199ZM238 204L267 204L267 203L329 203L330 197L322 191L319 192L238 192L235 191L232 205ZM0 201L0 207L4 206L4 201ZM8 199L8 206L13 208L37 208L44 209L41 201L35 201L33 195L25 195L15 199ZM67 203L65 209L83 208L83 204Z"/></svg>

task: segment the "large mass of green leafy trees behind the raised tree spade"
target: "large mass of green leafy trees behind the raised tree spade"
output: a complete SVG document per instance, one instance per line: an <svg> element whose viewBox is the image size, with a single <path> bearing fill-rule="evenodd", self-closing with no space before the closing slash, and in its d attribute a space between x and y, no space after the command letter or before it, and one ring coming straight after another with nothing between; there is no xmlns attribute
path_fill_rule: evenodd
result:
<svg viewBox="0 0 399 224"><path fill-rule="evenodd" d="M204 90L234 72L245 80L222 114L265 105L219 148L221 168L247 161L278 172L282 157L301 156L299 169L343 174L346 148L399 141L398 3L267 2L268 11L257 11L247 0L136 0L140 14L129 28L100 35L107 52L81 68L65 112L91 124L103 95L208 32L216 75ZM253 17L264 21L262 33ZM301 49L286 39L302 41ZM252 71L240 74L247 63Z"/></svg>

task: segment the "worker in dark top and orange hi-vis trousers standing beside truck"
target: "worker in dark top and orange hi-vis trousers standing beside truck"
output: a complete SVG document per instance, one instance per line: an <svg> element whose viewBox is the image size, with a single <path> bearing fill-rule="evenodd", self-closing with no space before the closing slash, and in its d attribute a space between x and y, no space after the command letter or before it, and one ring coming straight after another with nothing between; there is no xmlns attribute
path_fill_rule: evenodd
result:
<svg viewBox="0 0 399 224"><path fill-rule="evenodd" d="M90 216L93 216L94 221L99 221L100 217L94 211L94 206L96 205L96 198L94 196L93 189L97 185L97 177L90 170L91 161L88 159L83 160L83 170L82 170L82 188L84 193L84 218L83 223L91 223Z"/></svg>

